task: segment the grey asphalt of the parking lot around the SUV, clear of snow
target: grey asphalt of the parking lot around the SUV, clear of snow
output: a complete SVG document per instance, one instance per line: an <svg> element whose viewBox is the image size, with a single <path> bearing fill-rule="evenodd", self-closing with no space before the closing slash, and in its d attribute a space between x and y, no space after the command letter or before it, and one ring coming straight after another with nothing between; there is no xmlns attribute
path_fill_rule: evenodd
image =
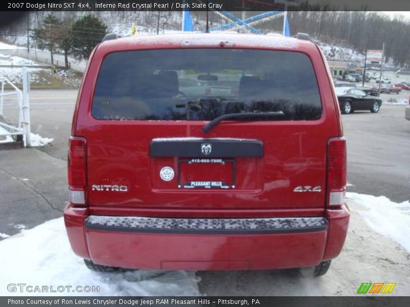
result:
<svg viewBox="0 0 410 307"><path fill-rule="evenodd" d="M54 138L54 142L43 148L0 150L0 233L13 235L61 216L67 201L66 155L76 94L32 91L32 132ZM12 101L6 102L5 114L12 117L13 110ZM348 190L384 195L395 202L408 200L410 122L404 119L404 105L383 105L378 114L355 112L343 115L342 120L348 146ZM198 273L202 279L201 292L353 295L352 289L356 291L361 282L372 276L401 281L403 288L398 287L395 294L408 295L404 285L409 281L410 255L392 240L369 229L356 212L358 206L351 204L351 208L346 245L323 278L306 282L282 271L203 272ZM358 250L358 246L362 249ZM350 284L354 284L353 288Z"/></svg>

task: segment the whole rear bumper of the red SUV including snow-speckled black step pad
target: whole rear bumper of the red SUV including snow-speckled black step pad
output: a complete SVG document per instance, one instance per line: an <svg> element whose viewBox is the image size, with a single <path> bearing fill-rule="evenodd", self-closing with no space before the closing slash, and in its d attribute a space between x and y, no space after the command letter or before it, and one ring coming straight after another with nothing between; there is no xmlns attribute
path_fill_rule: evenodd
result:
<svg viewBox="0 0 410 307"><path fill-rule="evenodd" d="M96 264L162 270L310 267L336 257L348 209L324 217L191 219L89 216L67 206L74 252Z"/></svg>

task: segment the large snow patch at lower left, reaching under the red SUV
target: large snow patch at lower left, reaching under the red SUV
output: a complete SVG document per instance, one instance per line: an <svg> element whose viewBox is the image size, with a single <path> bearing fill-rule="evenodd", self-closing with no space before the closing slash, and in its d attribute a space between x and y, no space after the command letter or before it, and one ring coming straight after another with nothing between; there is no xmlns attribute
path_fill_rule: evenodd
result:
<svg viewBox="0 0 410 307"><path fill-rule="evenodd" d="M10 293L7 284L27 286L99 286L98 293L56 292L47 295L98 296L198 296L199 279L185 271L129 271L100 273L86 268L68 242L63 217L48 221L0 242L0 295L44 295ZM30 255L28 257L28 254ZM71 290L72 291L72 290Z"/></svg>

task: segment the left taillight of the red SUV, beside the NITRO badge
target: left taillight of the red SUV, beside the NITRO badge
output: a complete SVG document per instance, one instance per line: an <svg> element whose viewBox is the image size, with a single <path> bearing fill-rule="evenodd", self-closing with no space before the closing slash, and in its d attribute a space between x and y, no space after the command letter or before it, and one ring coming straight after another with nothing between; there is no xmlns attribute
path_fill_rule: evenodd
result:
<svg viewBox="0 0 410 307"><path fill-rule="evenodd" d="M73 205L86 205L87 142L83 137L70 137L68 149L68 188Z"/></svg>

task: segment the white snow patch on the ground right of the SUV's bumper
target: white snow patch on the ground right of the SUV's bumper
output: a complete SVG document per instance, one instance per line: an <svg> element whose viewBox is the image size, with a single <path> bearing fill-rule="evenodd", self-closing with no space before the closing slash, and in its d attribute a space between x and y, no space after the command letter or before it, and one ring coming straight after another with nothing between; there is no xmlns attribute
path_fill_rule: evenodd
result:
<svg viewBox="0 0 410 307"><path fill-rule="evenodd" d="M394 239L410 252L410 202L395 203L385 196L347 192L347 199L362 205L358 210L368 226L383 236Z"/></svg>

